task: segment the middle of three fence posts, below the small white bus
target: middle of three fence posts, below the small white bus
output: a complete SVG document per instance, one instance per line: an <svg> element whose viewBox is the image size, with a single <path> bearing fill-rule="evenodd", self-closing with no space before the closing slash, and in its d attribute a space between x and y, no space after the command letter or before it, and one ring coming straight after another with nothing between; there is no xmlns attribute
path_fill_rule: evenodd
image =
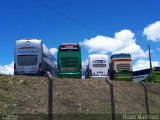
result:
<svg viewBox="0 0 160 120"><path fill-rule="evenodd" d="M111 96L111 109L112 109L112 120L116 119L115 116L115 103L114 103L114 91L113 91L113 83L106 79L107 83L109 84L110 87L110 96Z"/></svg>

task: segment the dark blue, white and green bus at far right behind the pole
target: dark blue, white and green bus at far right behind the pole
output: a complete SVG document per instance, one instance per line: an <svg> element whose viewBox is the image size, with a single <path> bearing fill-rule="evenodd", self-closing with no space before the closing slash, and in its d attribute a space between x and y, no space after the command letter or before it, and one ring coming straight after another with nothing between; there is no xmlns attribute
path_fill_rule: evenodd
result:
<svg viewBox="0 0 160 120"><path fill-rule="evenodd" d="M133 71L133 81L139 82L151 82L151 72L153 76L153 81L160 83L160 67L153 67L152 71L150 72L150 68Z"/></svg>

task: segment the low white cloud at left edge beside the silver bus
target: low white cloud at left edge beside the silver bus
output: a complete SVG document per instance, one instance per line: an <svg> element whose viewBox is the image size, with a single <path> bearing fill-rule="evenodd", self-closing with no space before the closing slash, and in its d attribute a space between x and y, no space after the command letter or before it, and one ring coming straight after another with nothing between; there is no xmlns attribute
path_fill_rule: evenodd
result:
<svg viewBox="0 0 160 120"><path fill-rule="evenodd" d="M0 65L0 74L13 75L14 74L14 62L9 65Z"/></svg>

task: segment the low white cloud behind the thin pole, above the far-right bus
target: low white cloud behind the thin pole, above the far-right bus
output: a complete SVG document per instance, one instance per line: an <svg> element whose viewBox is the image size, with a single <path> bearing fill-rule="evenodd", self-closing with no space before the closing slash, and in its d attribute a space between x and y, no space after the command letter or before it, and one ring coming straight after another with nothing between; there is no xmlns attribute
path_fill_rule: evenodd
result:
<svg viewBox="0 0 160 120"><path fill-rule="evenodd" d="M156 67L156 66L160 66L160 62L158 62L158 61L152 61L152 67ZM150 68L149 60L139 59L133 65L133 71L147 69L147 68Z"/></svg>

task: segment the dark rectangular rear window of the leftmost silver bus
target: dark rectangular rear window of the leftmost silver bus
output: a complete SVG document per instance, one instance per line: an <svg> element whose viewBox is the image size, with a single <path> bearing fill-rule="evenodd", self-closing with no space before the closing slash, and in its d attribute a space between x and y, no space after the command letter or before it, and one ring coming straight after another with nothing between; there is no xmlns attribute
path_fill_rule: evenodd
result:
<svg viewBox="0 0 160 120"><path fill-rule="evenodd" d="M19 66L37 65L38 55L18 55Z"/></svg>

